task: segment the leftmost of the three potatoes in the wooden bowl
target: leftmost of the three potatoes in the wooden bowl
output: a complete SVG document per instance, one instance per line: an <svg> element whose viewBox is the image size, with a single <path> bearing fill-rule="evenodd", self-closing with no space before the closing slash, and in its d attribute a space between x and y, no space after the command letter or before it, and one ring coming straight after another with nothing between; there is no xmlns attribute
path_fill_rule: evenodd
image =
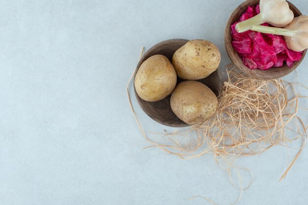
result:
<svg viewBox="0 0 308 205"><path fill-rule="evenodd" d="M135 89L145 101L160 101L170 95L177 84L177 74L164 55L153 55L144 61L135 77Z"/></svg>

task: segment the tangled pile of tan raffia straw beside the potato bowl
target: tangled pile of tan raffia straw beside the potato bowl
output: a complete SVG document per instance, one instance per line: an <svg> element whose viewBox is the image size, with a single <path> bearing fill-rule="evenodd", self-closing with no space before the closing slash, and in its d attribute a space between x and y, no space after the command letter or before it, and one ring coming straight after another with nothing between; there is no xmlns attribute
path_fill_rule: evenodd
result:
<svg viewBox="0 0 308 205"><path fill-rule="evenodd" d="M298 154L281 177L285 178L306 144L308 127L297 112L299 99L307 97L296 95L294 84L282 79L254 79L235 72L234 65L228 66L227 73L216 116L202 125L159 134L146 133L134 113L143 136L152 143L150 147L169 154L190 159L213 153L216 161L256 155L301 140Z"/></svg>

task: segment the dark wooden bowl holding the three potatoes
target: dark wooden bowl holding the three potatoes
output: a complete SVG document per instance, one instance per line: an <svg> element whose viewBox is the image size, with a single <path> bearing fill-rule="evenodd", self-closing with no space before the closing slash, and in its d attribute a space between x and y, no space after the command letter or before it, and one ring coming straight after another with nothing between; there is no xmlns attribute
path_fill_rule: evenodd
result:
<svg viewBox="0 0 308 205"><path fill-rule="evenodd" d="M170 60L170 62L172 62L172 56L175 53L175 51L177 51L179 48L184 46L187 42L188 40L185 40L185 39L171 39L171 40L160 42L156 44L155 46L153 46L151 49L149 49L148 51L144 53L144 55L141 57L140 61L138 62L136 72L134 74L134 78L136 77L136 73L140 65L145 60L147 60L149 57L156 55L156 54L161 54L161 55L165 55ZM180 83L181 81L183 80L178 77L177 83ZM221 77L221 72L219 68L214 73L212 73L209 77L206 77L198 81L207 85L216 94L216 96L218 96L219 93L221 92L222 77ZM135 90L135 96L137 98L137 101L140 107L154 121L162 125L169 126L169 127L182 128L182 127L188 126L185 122L180 120L173 113L171 106L170 106L171 95L169 95L167 98L161 101L147 102L147 101L142 100L138 96L135 86L134 86L134 90Z"/></svg>

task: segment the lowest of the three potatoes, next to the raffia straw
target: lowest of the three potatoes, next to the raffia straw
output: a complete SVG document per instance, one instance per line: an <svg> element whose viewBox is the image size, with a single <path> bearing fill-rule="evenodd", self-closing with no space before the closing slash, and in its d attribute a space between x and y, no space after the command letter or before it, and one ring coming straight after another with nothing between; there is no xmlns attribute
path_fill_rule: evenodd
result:
<svg viewBox="0 0 308 205"><path fill-rule="evenodd" d="M218 99L201 82L187 80L179 83L171 95L171 108L188 125L203 123L217 111Z"/></svg>

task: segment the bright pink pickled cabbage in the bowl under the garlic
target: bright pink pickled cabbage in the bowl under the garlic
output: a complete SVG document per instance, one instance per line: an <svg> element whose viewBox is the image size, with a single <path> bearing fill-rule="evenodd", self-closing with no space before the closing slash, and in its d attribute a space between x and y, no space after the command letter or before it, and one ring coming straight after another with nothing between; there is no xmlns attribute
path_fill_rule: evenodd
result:
<svg viewBox="0 0 308 205"><path fill-rule="evenodd" d="M260 13L259 5L248 7L239 22L250 19ZM284 62L291 68L295 61L302 58L302 52L292 51L280 35L266 34L248 30L238 33L235 26L231 26L232 46L242 57L246 67L268 70L272 67L281 67ZM271 26L267 23L262 26Z"/></svg>

